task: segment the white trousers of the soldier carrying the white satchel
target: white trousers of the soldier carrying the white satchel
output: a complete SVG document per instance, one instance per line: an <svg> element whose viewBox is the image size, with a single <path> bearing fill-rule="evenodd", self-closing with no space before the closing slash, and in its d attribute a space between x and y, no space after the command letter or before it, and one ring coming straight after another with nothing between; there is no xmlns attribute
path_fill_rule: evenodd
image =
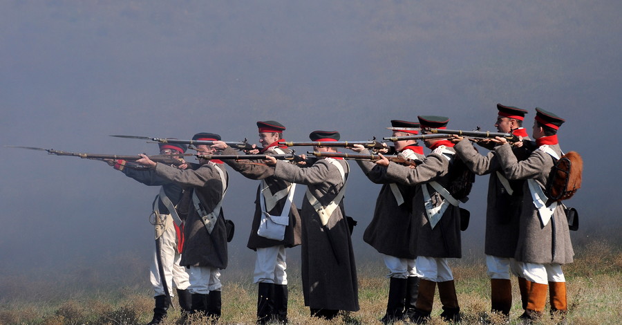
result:
<svg viewBox="0 0 622 325"><path fill-rule="evenodd" d="M285 263L285 258L285 246L283 245L257 248L253 273L254 283L288 284L288 275L285 273L288 265Z"/></svg>

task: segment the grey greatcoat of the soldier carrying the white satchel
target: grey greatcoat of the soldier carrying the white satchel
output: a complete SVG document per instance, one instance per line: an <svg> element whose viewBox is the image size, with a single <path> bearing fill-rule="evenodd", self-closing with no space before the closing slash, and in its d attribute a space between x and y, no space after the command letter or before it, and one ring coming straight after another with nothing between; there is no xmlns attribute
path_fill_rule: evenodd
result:
<svg viewBox="0 0 622 325"><path fill-rule="evenodd" d="M292 151L287 148L282 148L281 150L285 151L285 154L290 154ZM223 154L225 155L235 155L238 151L231 147L227 147ZM231 166L236 171L240 172L240 174L244 175L246 178L254 179L254 180L264 180L267 184L267 189L265 191L270 192L270 194L275 194L276 192L281 191L282 189L287 188L291 183L285 180L281 180L279 178L274 177L274 168L268 167L265 165L254 165L254 164L245 164L240 163L237 160L227 159L225 160L227 165ZM257 230L259 229L259 223L261 221L261 203L259 199L261 198L261 185L257 188L257 196L255 197L255 215L253 217L253 223L251 232L248 238L247 247L256 250L257 248L267 248L276 245L284 245L287 248L294 247L296 245L300 245L301 239L301 226L300 226L300 215L298 214L298 209L296 209L296 205L292 203L292 207L290 208L290 223L287 227L285 227L285 237L282 241L276 241L274 239L267 239L265 237L259 236L257 234ZM298 187L298 191L300 191L300 187ZM267 211L273 216L280 216L281 212L283 212L283 206L285 205L285 201L287 201L287 196L281 198L272 208L272 210Z"/></svg>

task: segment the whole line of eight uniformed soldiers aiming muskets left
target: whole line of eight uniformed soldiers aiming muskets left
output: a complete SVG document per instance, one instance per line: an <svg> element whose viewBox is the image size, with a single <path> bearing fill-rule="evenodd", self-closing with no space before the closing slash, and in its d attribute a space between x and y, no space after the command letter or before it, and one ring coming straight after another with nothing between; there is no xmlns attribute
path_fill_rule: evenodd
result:
<svg viewBox="0 0 622 325"><path fill-rule="evenodd" d="M529 140L522 127L527 111L501 104L497 108L498 131ZM417 134L417 129L444 129L448 122L449 118L442 116L421 115L418 122L392 120L389 129L393 136L408 136ZM443 309L441 317L450 322L460 321L449 266L449 259L462 257L460 231L461 223L466 221L459 206L466 198L455 198L448 190L457 160L475 174L491 175L485 254L493 312L509 317L513 273L518 277L525 309L522 319L530 321L541 316L547 288L552 312L565 313L565 279L560 266L571 263L574 255L567 221L561 205L548 212L538 210L534 195L536 187L541 192L546 183L554 163L552 155L561 155L556 131L563 122L553 113L536 109L536 145L510 145L505 138L493 138L480 142L491 150L486 156L479 154L470 141L455 136L424 140L432 151L427 156L416 140L395 141L395 152L417 161L416 167L390 162L381 155L382 159L375 162L357 160L370 180L383 184L373 220L364 233L364 241L382 254L389 270L390 286L382 323L426 322L431 317L437 287ZM224 168L227 164L246 178L260 181L247 243L248 248L256 251L257 323L288 322L285 248L296 245L301 245L303 294L310 314L332 319L341 310L359 310L350 239L353 222L343 208L350 174L348 163L343 158L309 159L302 163L276 160L271 155L291 153L283 139L285 127L276 121L260 121L257 127L263 147L248 154L265 154L265 160L223 163L200 159L198 164L173 167L141 155L142 159L135 164L124 160L111 162L115 169L141 183L162 185L153 209L165 221L170 238L169 255L165 258L162 248L161 263L166 264L164 282L168 284L165 288L171 288L174 282L183 317L220 317L219 277L220 270L227 267L227 236L231 231L222 208L228 186ZM312 141L332 142L339 138L337 131L310 133ZM193 140L212 141L213 145L196 146L203 155L237 152L215 133L198 133ZM186 149L183 145L160 145L161 154L173 156ZM361 145L351 149L366 150ZM314 151L331 153L337 149L322 145L314 147ZM296 184L307 185L301 210L292 202ZM550 219L543 218L543 214ZM160 324L170 304L155 272L156 264L154 259L151 280L156 308L149 324ZM187 277L176 271L183 268Z"/></svg>

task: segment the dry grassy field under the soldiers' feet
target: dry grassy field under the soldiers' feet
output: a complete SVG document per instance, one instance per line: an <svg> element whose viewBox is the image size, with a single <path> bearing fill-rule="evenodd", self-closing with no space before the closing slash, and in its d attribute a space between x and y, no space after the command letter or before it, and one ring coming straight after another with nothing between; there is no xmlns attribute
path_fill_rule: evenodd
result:
<svg viewBox="0 0 622 325"><path fill-rule="evenodd" d="M575 263L565 266L567 278L569 324L621 324L622 322L622 254L604 242L588 243ZM332 322L312 319L304 306L299 272L290 272L290 324L380 324L384 315L388 279L377 264L359 267L359 303L361 310L341 315ZM489 279L482 261L462 259L453 263L462 324L500 324L498 315L490 315ZM140 273L142 279L142 273ZM46 281L27 283L21 277L0 279L0 325L8 324L146 324L151 320L151 288L127 285L122 288L97 286L97 279L50 284ZM132 279L126 283L131 284ZM139 281L140 282L140 281ZM256 285L244 275L233 275L223 281L223 317L220 324L254 324ZM41 290L43 288L43 290ZM428 324L443 324L440 301ZM516 278L513 279L511 324L522 313ZM164 324L176 324L179 308L169 310ZM540 324L556 324L558 319L544 317Z"/></svg>

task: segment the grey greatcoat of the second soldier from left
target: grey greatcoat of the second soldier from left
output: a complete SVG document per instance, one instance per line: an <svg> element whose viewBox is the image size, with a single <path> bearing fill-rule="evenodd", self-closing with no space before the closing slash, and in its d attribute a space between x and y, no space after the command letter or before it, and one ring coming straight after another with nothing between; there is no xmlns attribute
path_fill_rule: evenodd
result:
<svg viewBox="0 0 622 325"><path fill-rule="evenodd" d="M192 203L193 192L196 192L200 204L208 213L212 212L220 202L223 195L223 182L220 180L220 174L216 168L223 170L228 183L229 176L223 164L206 163L196 169L185 170L161 163L156 165L156 173L159 176L187 189L178 205L180 216L187 212L181 266L227 268L227 229L225 228L223 210L220 210L216 225L210 234ZM227 184L224 186L226 189Z"/></svg>

